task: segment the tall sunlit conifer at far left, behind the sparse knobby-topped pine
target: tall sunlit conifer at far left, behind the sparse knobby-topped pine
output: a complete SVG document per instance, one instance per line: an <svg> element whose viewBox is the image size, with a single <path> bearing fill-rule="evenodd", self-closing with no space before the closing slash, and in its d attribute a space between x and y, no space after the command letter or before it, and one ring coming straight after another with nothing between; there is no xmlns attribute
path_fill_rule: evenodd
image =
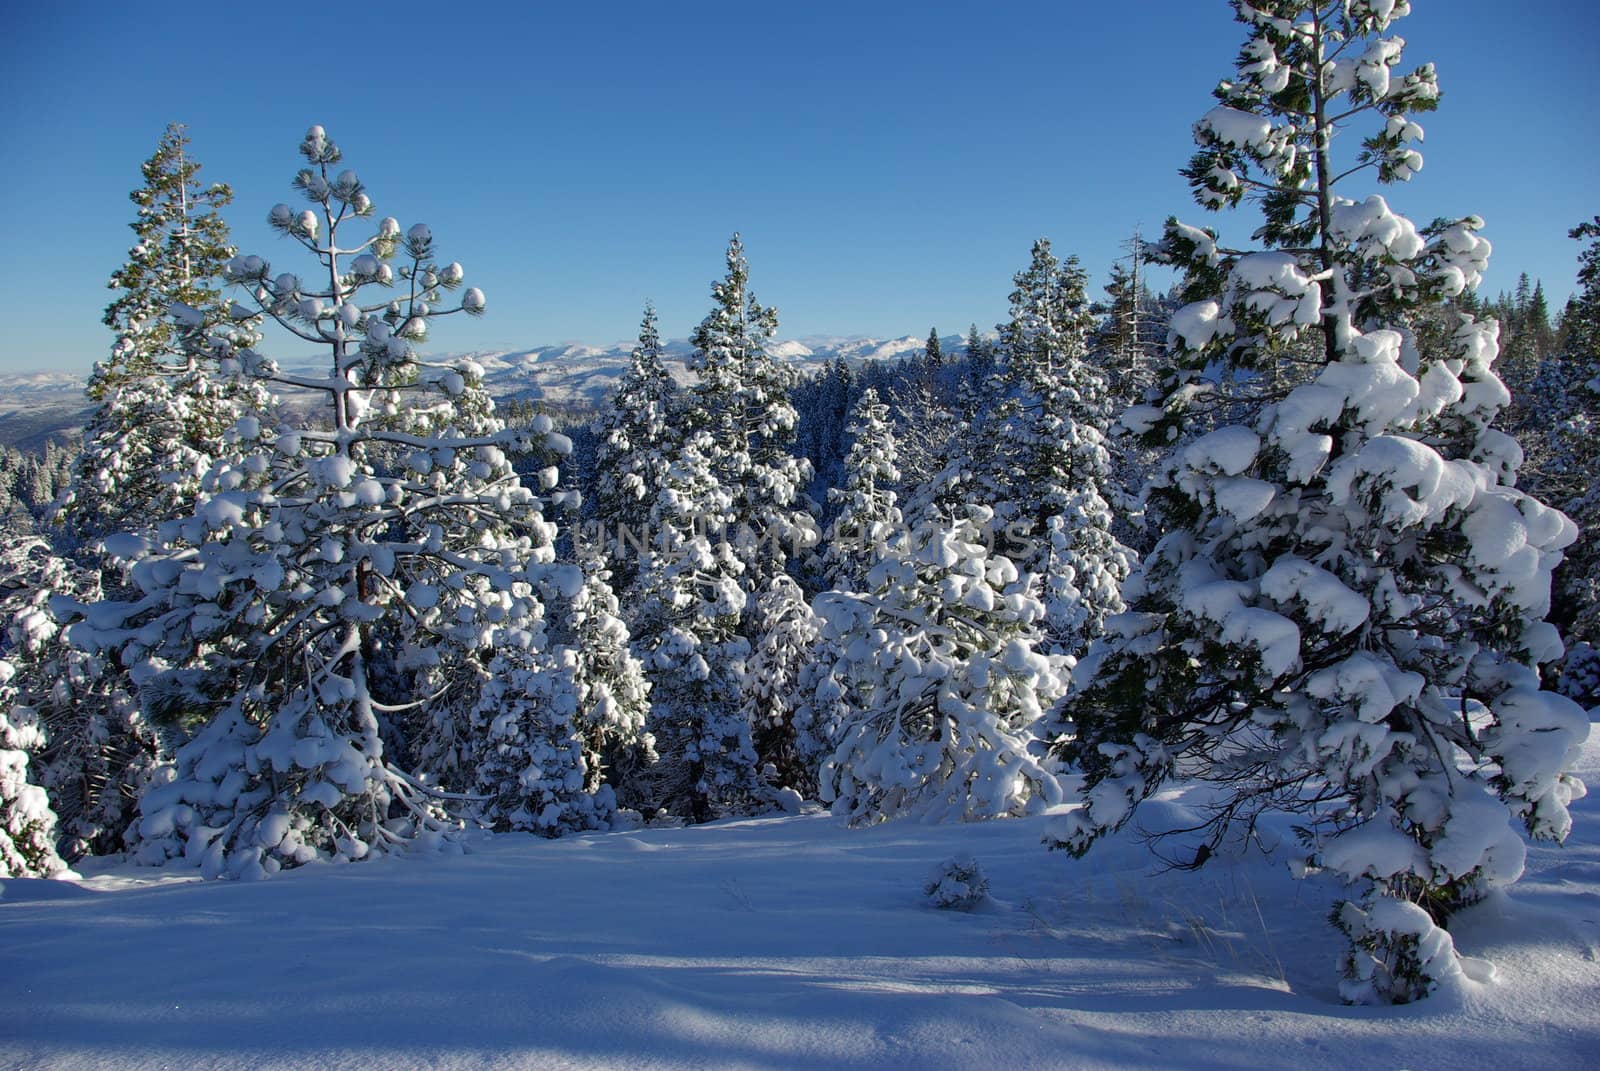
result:
<svg viewBox="0 0 1600 1071"><path fill-rule="evenodd" d="M218 210L232 191L203 186L184 126L166 128L144 162L136 243L112 274L118 296L106 309L117 333L110 357L94 367L88 394L99 405L83 432L83 451L67 487L59 488L58 519L78 540L152 527L182 509L221 448L221 437L242 407L235 384L184 352L186 330L170 311L190 319L226 319L222 266L234 256Z"/></svg>

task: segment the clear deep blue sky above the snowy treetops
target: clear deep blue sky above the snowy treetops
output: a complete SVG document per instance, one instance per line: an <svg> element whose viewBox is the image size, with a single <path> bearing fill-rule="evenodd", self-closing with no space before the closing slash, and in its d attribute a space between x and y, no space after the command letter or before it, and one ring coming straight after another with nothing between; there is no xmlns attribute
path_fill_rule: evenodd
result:
<svg viewBox="0 0 1600 1071"><path fill-rule="evenodd" d="M1566 231L1600 213L1600 13L1414 6L1406 66L1434 61L1445 99L1387 195L1419 224L1482 215L1485 290L1526 271L1560 304ZM294 269L264 218L325 125L378 213L430 224L488 293L440 349L611 343L646 298L683 336L736 229L787 338L987 328L1037 235L1098 295L1134 226L1206 219L1176 171L1242 40L1222 0L14 5L0 370L106 352L126 194L170 120L234 186L242 251Z"/></svg>

